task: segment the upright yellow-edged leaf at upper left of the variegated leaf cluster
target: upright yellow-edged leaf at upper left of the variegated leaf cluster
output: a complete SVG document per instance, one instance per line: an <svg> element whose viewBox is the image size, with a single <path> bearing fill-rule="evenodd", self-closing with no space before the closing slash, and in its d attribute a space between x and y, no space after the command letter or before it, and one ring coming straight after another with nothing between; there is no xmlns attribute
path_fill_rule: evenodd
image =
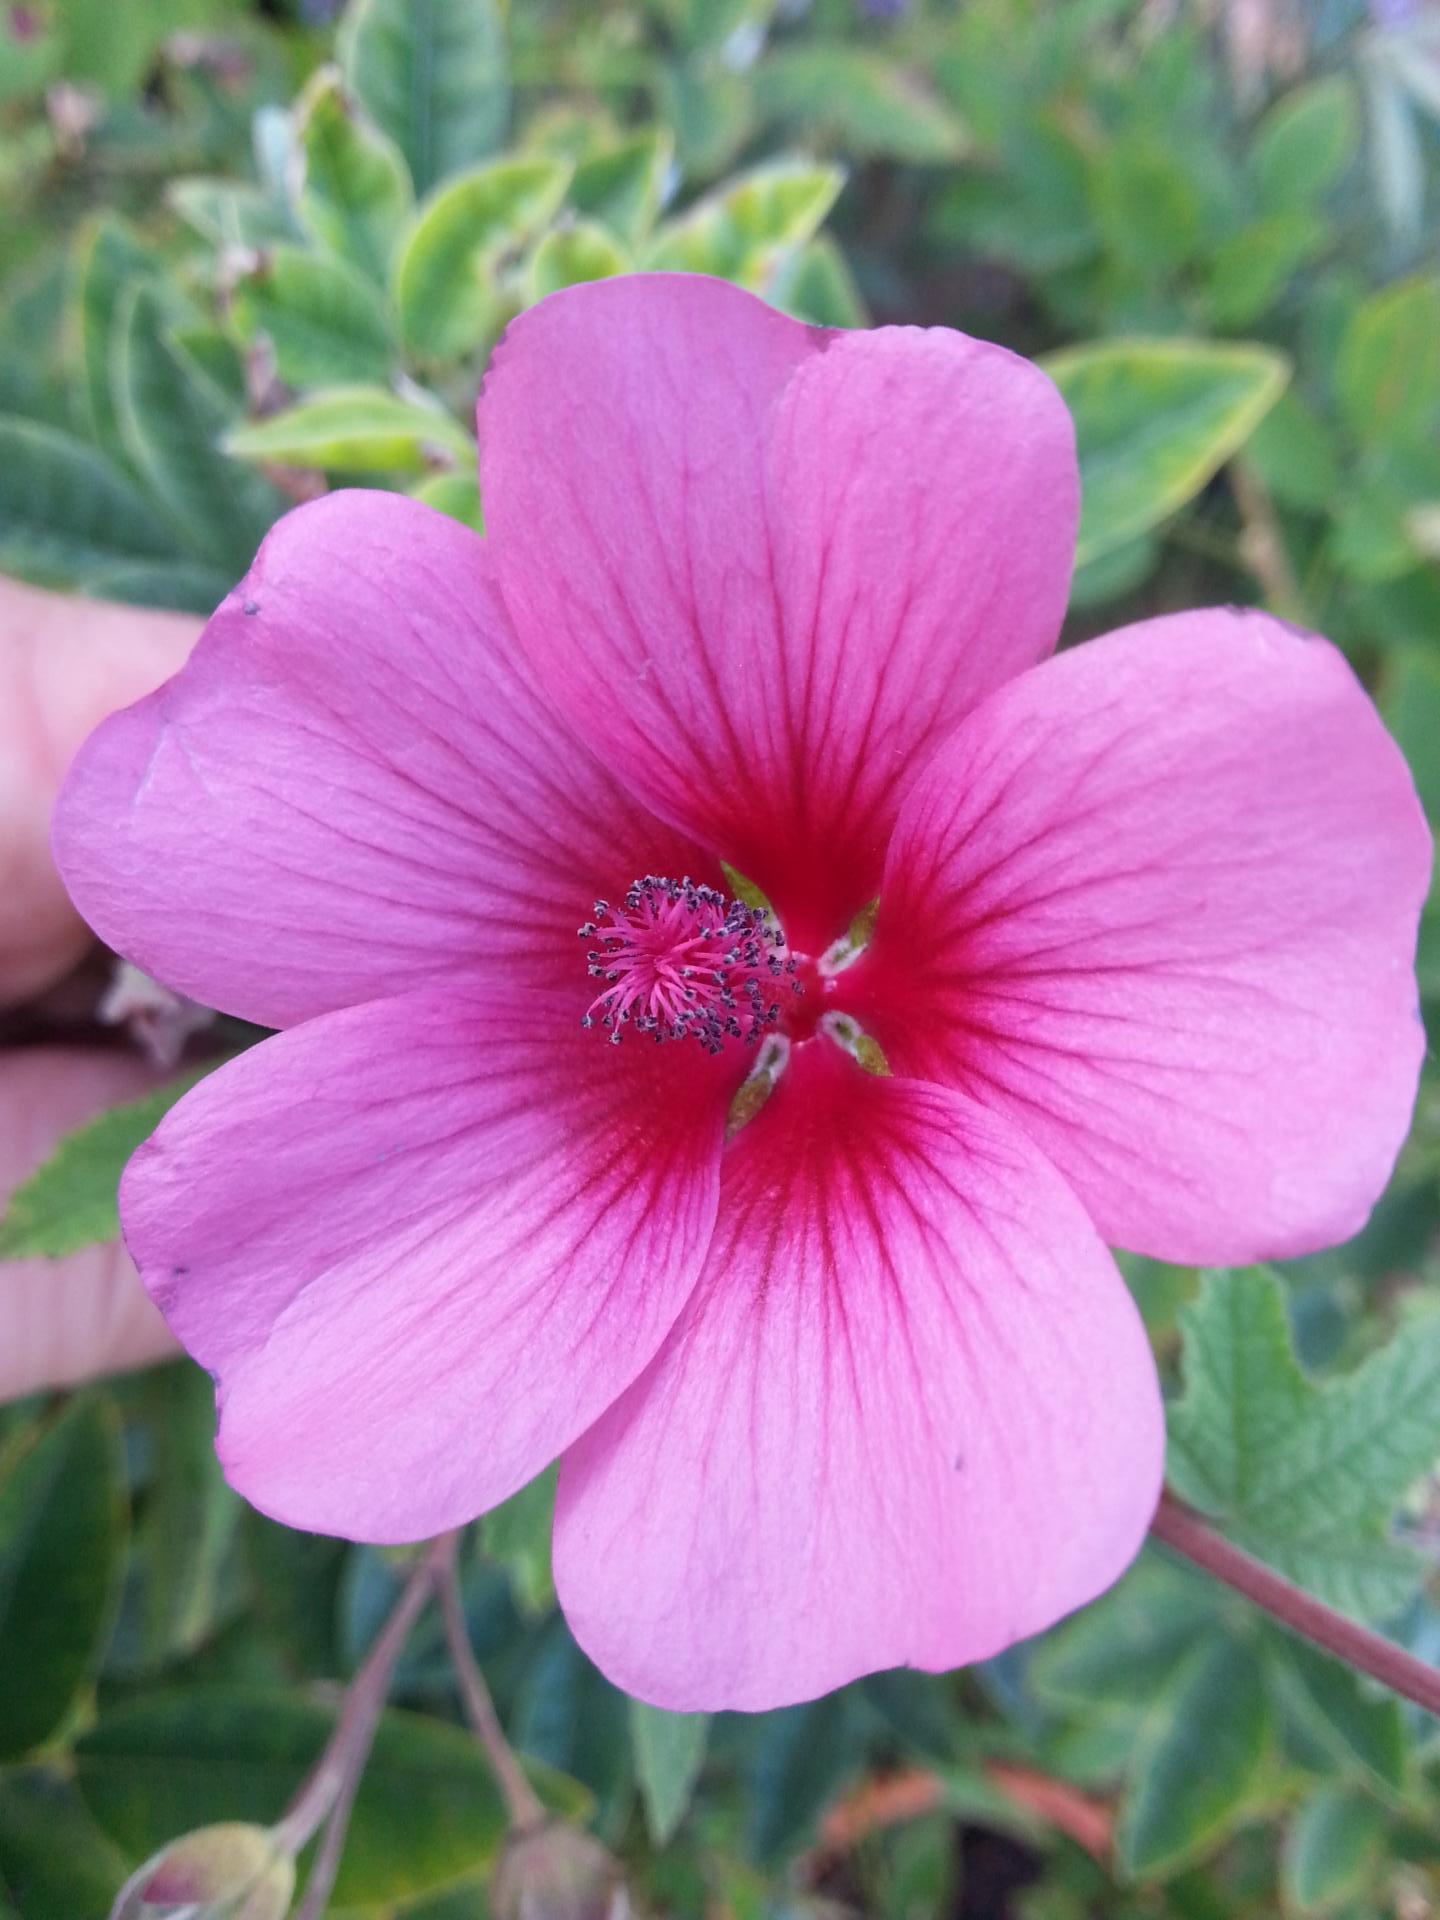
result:
<svg viewBox="0 0 1440 1920"><path fill-rule="evenodd" d="M328 69L315 77L298 115L296 219L336 259L384 286L415 204L403 154L355 115Z"/></svg>

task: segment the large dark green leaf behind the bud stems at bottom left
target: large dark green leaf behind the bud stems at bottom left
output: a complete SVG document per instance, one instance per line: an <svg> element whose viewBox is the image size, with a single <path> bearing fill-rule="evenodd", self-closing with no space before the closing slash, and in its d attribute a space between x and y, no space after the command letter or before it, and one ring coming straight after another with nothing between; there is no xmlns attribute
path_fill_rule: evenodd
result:
<svg viewBox="0 0 1440 1920"><path fill-rule="evenodd" d="M240 1688L163 1693L102 1716L77 1743L75 1778L100 1826L136 1859L175 1834L280 1816L332 1726L324 1707ZM528 1766L566 1816L586 1793ZM380 1907L447 1887L488 1864L505 1834L493 1778L468 1732L388 1711L355 1797L334 1907Z"/></svg>

